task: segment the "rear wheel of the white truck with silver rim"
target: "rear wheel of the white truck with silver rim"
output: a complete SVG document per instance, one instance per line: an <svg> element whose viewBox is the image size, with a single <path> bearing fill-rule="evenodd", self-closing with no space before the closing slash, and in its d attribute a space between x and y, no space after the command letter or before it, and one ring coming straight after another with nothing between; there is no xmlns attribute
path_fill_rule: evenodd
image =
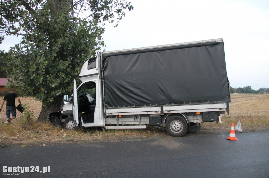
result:
<svg viewBox="0 0 269 178"><path fill-rule="evenodd" d="M181 116L172 116L167 121L165 128L172 137L182 137L187 131L187 122Z"/></svg>

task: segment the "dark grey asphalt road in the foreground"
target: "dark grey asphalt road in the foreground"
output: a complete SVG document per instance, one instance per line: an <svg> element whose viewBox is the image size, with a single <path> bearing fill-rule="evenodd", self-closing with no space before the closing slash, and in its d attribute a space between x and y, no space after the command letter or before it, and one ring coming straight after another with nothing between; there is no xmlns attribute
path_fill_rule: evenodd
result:
<svg viewBox="0 0 269 178"><path fill-rule="evenodd" d="M0 177L268 178L269 132L228 136L1 148Z"/></svg>

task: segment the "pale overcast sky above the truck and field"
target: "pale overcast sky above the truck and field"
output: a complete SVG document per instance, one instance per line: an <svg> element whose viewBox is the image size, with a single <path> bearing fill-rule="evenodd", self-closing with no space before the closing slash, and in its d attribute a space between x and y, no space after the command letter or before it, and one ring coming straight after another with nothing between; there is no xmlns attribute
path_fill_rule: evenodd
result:
<svg viewBox="0 0 269 178"><path fill-rule="evenodd" d="M129 1L119 26L105 25L106 51L222 38L231 86L269 88L268 0Z"/></svg>

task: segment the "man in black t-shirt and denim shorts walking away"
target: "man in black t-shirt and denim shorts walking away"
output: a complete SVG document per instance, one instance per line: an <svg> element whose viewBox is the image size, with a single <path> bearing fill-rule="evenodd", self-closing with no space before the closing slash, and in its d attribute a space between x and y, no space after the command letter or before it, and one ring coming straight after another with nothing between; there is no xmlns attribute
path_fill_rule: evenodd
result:
<svg viewBox="0 0 269 178"><path fill-rule="evenodd" d="M8 88L7 90L9 93L5 95L2 103L0 112L2 112L3 105L6 101L6 120L8 123L11 123L12 119L16 118L16 105L15 105L15 99L19 101L19 103L22 105L18 95L16 94L16 88ZM12 116L10 117L10 112Z"/></svg>

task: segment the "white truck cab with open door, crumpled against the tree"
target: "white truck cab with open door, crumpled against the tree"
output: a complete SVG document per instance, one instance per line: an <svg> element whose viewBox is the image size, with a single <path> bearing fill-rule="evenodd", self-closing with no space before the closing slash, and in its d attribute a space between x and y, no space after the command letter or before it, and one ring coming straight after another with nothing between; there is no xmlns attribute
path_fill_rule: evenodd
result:
<svg viewBox="0 0 269 178"><path fill-rule="evenodd" d="M63 122L63 126L67 130L74 129L78 125L82 127L104 126L100 65L100 54L87 60L79 74L79 79L82 83L76 87L76 81L74 80L73 94L64 96L64 104L60 112L63 118L61 122ZM74 95L76 95L77 102ZM77 113L77 116L73 113Z"/></svg>

